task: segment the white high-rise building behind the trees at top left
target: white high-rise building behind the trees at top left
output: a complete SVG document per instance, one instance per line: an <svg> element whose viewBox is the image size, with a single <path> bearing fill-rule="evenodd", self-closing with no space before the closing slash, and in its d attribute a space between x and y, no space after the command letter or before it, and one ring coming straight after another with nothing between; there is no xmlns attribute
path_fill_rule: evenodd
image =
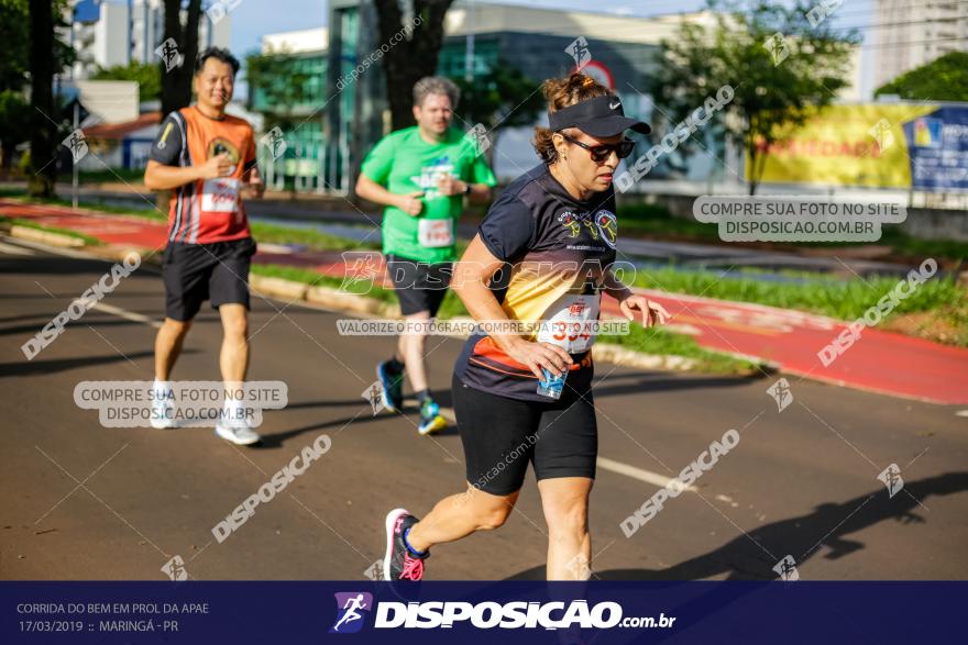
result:
<svg viewBox="0 0 968 645"><path fill-rule="evenodd" d="M78 9L81 4L84 11ZM73 2L66 18L72 26L62 37L73 42L77 51L74 78L87 78L98 67L158 62L155 48L164 41L165 32L163 0L84 0ZM185 18L183 11L183 23ZM199 51L228 47L231 30L231 12L204 11L198 26Z"/></svg>

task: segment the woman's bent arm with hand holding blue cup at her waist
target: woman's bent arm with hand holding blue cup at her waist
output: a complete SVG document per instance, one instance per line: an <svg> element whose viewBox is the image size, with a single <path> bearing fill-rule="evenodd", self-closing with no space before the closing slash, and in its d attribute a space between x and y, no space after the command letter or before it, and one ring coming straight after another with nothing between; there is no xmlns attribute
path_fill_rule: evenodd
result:
<svg viewBox="0 0 968 645"><path fill-rule="evenodd" d="M487 287L487 282L503 264L487 249L487 246L481 241L481 235L475 235L460 262L454 265L451 289L476 321L504 322L510 320ZM541 372L542 367L554 376L560 376L572 363L571 355L562 347L551 343L526 341L519 334L512 333L510 330L495 332L490 336L508 356L527 365L528 369L540 379L544 378Z"/></svg>

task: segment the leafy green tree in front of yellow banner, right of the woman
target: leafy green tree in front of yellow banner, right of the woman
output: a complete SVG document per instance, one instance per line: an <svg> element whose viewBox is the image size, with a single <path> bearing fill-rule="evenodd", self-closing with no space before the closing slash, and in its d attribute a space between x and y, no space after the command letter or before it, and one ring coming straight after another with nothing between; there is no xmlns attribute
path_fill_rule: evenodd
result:
<svg viewBox="0 0 968 645"><path fill-rule="evenodd" d="M856 31L837 34L833 20L811 26L807 0L784 7L763 0L707 0L715 26L683 22L675 38L661 43L649 91L671 125L681 122L724 85L734 97L710 121L747 155L749 193L755 194L770 144L789 138L848 85L845 76ZM681 144L689 149L689 142Z"/></svg>

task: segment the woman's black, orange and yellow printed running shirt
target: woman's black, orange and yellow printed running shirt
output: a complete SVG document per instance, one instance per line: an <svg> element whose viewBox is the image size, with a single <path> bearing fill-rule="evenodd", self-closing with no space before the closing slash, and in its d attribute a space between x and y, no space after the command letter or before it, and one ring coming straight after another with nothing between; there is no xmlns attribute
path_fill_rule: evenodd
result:
<svg viewBox="0 0 968 645"><path fill-rule="evenodd" d="M492 286L502 310L532 333L528 341L564 348L574 360L566 387L592 378L591 348L605 271L618 233L612 190L574 200L539 166L513 182L479 229L481 241L507 263ZM490 336L468 340L455 367L464 383L513 399L535 400L537 377Z"/></svg>

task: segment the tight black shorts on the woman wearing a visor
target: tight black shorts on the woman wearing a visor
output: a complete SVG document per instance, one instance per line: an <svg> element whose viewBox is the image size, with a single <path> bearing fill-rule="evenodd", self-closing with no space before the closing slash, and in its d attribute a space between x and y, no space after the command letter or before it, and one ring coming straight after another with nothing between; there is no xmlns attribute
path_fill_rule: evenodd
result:
<svg viewBox="0 0 968 645"><path fill-rule="evenodd" d="M598 430L591 389L565 387L561 399L538 403L475 390L457 375L451 387L468 481L474 488L510 494L524 485L529 461L538 481L595 478Z"/></svg>

